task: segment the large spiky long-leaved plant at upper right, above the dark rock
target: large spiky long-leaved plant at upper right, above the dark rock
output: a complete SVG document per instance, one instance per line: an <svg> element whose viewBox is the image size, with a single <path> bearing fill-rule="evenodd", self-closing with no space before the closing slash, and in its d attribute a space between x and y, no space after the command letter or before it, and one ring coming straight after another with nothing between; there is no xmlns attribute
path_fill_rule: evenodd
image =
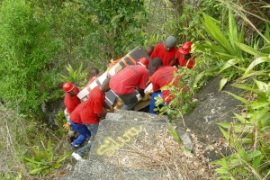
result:
<svg viewBox="0 0 270 180"><path fill-rule="evenodd" d="M260 39L255 43L251 42L254 44L254 47L248 46L244 43L245 39L243 25L241 26L242 28L238 30L238 24L236 23L234 14L232 14L231 11L229 11L229 28L222 26L220 22L211 18L207 14L203 14L203 18L204 21L202 24L214 42L202 35L203 39L205 40L204 44L196 43L195 47L204 54L209 54L210 50L213 55L212 58L218 62L221 62L221 64L215 63L218 66L219 74L222 75L220 80L220 91L222 90L223 86L229 82L229 80L237 78L238 76L247 76L249 69L256 66L256 63L260 64L266 61L264 60L264 57L267 57L267 54L260 51L257 47ZM219 26L222 27L222 29L220 29ZM225 34L223 32L225 32ZM270 44L269 41L267 41L268 38L269 28L268 24L266 23L266 31L263 38L263 51L268 50L267 47ZM254 61L253 64L249 64L250 67L247 68L252 57L257 58L257 61ZM256 76L256 74L249 74L249 76Z"/></svg>

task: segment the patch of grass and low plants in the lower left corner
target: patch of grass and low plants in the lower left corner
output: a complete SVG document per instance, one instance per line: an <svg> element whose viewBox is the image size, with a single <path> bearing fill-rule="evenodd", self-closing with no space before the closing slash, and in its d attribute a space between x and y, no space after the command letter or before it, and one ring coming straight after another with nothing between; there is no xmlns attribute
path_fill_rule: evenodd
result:
<svg viewBox="0 0 270 180"><path fill-rule="evenodd" d="M58 169L69 156L65 153L68 148L62 149L67 139L56 138L56 131L2 104L0 114L0 179L39 179Z"/></svg>

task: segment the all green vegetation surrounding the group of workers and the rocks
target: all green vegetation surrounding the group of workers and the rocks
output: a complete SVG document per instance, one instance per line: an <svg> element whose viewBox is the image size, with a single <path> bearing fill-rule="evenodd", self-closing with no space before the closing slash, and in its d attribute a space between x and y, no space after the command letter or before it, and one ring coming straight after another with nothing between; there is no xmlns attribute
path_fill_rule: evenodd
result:
<svg viewBox="0 0 270 180"><path fill-rule="evenodd" d="M178 70L179 85L189 86L189 93L166 87L182 100L175 98L166 110L172 121L192 110L193 94L213 76L222 76L220 91L234 82L244 90L231 94L243 112L219 124L233 154L214 162L216 172L221 179L270 178L266 1L2 0L0 9L1 179L57 176L68 160L68 152L60 150L67 149L63 114L59 110L55 117L59 130L51 130L41 106L62 98L63 82L85 85L90 67L102 71L111 58L167 35L175 35L178 46L195 42L197 56L196 67Z"/></svg>

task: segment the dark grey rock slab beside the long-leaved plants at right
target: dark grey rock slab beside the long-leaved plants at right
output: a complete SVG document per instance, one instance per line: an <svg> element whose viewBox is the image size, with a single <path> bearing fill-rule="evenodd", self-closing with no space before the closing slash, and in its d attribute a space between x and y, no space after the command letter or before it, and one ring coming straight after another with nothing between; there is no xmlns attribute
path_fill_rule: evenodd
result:
<svg viewBox="0 0 270 180"><path fill-rule="evenodd" d="M183 120L178 120L176 125L191 129L200 134L202 141L205 136L210 139L222 137L217 123L232 121L232 112L238 112L238 105L240 104L237 99L224 91L229 91L233 94L240 94L242 91L231 85L226 85L223 92L219 92L219 85L220 77L212 79L210 83L205 85L202 91L196 95L199 103L193 109L193 112L185 114L184 122Z"/></svg>

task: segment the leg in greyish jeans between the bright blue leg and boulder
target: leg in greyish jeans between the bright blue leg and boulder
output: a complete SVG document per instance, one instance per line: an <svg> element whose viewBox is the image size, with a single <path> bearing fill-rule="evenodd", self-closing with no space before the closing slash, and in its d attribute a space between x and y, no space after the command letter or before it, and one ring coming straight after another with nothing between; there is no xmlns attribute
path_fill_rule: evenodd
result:
<svg viewBox="0 0 270 180"><path fill-rule="evenodd" d="M79 148L76 150L76 154L78 154L81 157L88 155L88 152L94 143L94 136L98 130L98 124L86 124L85 126L87 127L88 130L90 130L91 138L83 148Z"/></svg>

